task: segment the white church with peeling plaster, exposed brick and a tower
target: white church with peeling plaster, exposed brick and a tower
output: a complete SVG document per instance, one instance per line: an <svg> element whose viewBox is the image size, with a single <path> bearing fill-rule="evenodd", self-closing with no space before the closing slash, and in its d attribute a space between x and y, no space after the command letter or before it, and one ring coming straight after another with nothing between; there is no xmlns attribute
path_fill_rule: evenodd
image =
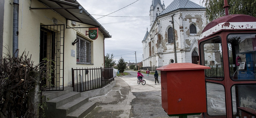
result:
<svg viewBox="0 0 256 118"><path fill-rule="evenodd" d="M142 40L143 67L199 61L198 40L207 25L206 8L189 0L173 0L165 8L152 0L150 30Z"/></svg>

